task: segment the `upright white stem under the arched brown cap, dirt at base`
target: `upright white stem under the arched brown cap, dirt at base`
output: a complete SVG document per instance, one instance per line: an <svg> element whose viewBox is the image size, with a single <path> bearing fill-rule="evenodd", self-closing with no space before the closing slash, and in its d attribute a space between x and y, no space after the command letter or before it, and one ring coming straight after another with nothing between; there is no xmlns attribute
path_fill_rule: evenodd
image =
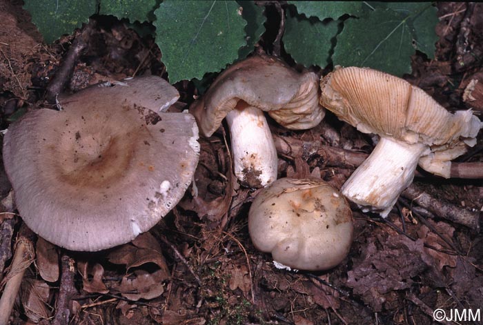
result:
<svg viewBox="0 0 483 325"><path fill-rule="evenodd" d="M249 186L266 186L277 179L277 150L264 112L253 106L226 115L230 129L233 169Z"/></svg>

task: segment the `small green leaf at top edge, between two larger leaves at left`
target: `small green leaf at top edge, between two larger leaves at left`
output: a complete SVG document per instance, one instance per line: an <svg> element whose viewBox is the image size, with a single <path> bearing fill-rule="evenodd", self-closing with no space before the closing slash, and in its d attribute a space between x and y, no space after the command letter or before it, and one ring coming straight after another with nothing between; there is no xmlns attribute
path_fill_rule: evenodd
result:
<svg viewBox="0 0 483 325"><path fill-rule="evenodd" d="M156 0L102 0L99 14L112 14L118 19L148 21L148 13L155 9Z"/></svg>

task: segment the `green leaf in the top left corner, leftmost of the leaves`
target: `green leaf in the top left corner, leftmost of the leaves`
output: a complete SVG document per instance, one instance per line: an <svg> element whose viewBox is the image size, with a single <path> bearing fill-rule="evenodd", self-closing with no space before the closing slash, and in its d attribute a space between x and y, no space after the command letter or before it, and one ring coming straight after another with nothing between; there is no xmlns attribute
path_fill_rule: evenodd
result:
<svg viewBox="0 0 483 325"><path fill-rule="evenodd" d="M32 15L32 22L46 43L51 43L87 23L97 11L97 1L25 0L23 8Z"/></svg>

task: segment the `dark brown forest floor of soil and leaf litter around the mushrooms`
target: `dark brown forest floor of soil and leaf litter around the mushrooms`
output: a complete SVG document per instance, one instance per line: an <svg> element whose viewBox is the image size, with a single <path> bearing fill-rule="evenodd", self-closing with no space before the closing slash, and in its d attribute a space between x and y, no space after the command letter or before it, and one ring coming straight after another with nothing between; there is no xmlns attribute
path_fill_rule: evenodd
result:
<svg viewBox="0 0 483 325"><path fill-rule="evenodd" d="M48 106L46 86L75 35L51 45L30 23L21 1L0 2L0 124L21 112ZM483 5L437 3L435 59L417 52L404 78L447 109L483 112ZM68 90L134 75L166 77L161 53L122 21L98 21L76 62ZM475 83L475 80L478 82ZM471 85L470 85L471 84ZM470 85L470 86L469 86ZM175 85L184 108L197 96L189 82ZM186 104L184 104L186 103ZM288 131L270 121L288 143L322 144L369 153L373 139L331 113L320 126ZM450 221L432 206L403 195L387 219L353 206L354 241L348 257L324 272L275 268L248 235L255 188L230 172L226 134L200 139L195 175L198 197L184 199L149 233L99 253L75 253L35 239L37 259L26 271L11 324L436 324L433 311L483 313L483 209L481 179L441 179L420 173L415 186L456 215ZM483 162L483 135L457 161ZM307 147L304 147L307 148ZM317 147L318 148L318 147ZM295 152L295 153L294 153ZM331 161L321 150L279 151L279 177L310 172L340 188L355 167ZM22 221L12 217L11 186L1 168L0 280L6 279ZM3 284L0 289L3 288ZM478 314L479 313L479 314ZM469 317L462 320L468 320ZM482 324L450 322L443 324Z"/></svg>

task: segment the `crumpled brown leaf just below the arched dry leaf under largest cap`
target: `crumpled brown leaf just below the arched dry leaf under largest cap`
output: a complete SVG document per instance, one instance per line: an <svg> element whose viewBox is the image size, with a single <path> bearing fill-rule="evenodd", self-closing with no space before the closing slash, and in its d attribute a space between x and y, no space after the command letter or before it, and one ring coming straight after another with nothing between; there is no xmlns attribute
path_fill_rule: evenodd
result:
<svg viewBox="0 0 483 325"><path fill-rule="evenodd" d="M149 273L146 270L135 270L134 278L124 276L117 290L123 297L132 301L139 299L154 299L164 293L164 284L161 282L166 279L163 270Z"/></svg>

